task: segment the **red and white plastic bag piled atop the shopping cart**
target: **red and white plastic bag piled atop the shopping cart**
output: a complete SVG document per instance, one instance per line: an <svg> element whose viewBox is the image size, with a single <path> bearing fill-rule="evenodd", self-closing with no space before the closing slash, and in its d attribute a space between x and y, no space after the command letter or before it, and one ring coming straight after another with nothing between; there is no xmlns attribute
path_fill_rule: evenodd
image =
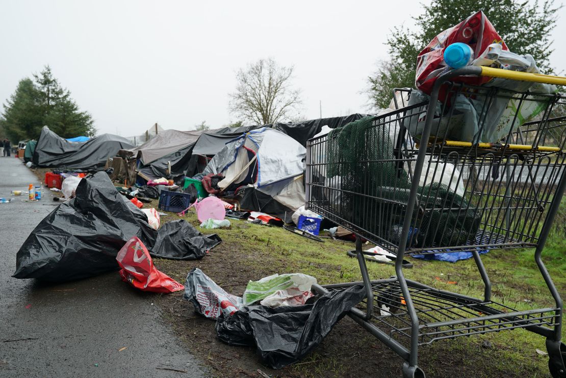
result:
<svg viewBox="0 0 566 378"><path fill-rule="evenodd" d="M486 15L482 11L476 12L461 23L434 37L426 48L419 53L415 80L418 89L427 94L432 92L432 85L434 85L436 78L449 68L444 63L444 49L456 42L469 45L474 50L474 58L483 53L487 46L495 43L501 44L503 50L509 50ZM457 78L453 81L481 85L489 80L491 78L470 76L469 78ZM444 98L442 93L439 97L441 101Z"/></svg>

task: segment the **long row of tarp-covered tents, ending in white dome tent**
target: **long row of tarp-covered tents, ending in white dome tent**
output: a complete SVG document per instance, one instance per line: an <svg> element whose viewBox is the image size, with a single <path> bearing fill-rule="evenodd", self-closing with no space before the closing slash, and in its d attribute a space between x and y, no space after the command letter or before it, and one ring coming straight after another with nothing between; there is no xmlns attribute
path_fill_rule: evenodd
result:
<svg viewBox="0 0 566 378"><path fill-rule="evenodd" d="M221 174L219 185L237 195L241 208L282 217L305 204L307 140L323 126L341 127L362 117L365 114L207 131L164 130L138 147L112 134L71 142L44 127L32 162L75 170L113 167L111 178L129 185Z"/></svg>

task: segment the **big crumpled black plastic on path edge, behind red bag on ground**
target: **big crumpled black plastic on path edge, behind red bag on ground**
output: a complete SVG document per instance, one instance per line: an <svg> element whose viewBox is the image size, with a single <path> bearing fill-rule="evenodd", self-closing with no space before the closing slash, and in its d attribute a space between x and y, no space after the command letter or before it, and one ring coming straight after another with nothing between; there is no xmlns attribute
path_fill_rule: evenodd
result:
<svg viewBox="0 0 566 378"><path fill-rule="evenodd" d="M82 179L76 197L35 227L16 255L13 277L70 281L117 270L118 251L132 237L153 257L176 260L200 259L220 242L185 220L152 229L147 216L99 172Z"/></svg>

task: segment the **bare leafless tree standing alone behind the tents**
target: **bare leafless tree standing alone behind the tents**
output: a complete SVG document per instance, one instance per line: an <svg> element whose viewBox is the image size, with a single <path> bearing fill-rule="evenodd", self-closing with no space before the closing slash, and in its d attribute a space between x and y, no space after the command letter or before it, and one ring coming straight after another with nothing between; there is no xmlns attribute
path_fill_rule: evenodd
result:
<svg viewBox="0 0 566 378"><path fill-rule="evenodd" d="M256 124L275 123L301 105L301 92L290 87L293 67L280 67L272 59L260 59L236 74L236 91L230 93L229 110L239 119Z"/></svg>

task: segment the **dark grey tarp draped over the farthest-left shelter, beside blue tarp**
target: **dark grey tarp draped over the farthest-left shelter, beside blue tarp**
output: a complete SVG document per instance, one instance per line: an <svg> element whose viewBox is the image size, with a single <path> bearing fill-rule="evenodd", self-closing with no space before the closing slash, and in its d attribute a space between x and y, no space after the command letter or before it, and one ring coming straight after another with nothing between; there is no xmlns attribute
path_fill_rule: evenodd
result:
<svg viewBox="0 0 566 378"><path fill-rule="evenodd" d="M123 148L133 147L127 139L102 134L84 143L70 142L44 126L33 152L33 164L40 167L100 169L109 157Z"/></svg>

